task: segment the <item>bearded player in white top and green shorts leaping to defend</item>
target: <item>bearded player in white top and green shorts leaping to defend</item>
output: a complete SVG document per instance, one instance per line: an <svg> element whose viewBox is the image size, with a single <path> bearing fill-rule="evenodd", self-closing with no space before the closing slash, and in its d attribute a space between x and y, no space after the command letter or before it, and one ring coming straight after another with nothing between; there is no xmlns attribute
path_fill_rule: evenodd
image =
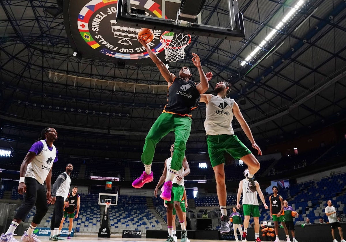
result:
<svg viewBox="0 0 346 242"><path fill-rule="evenodd" d="M262 151L257 146L251 130L240 112L238 104L233 99L227 97L230 88L230 83L219 82L216 84L214 90L217 93L216 96L212 94L201 94L200 100L200 102L204 102L207 105L204 128L208 135L208 153L217 184L216 190L222 216L220 226L221 234L230 231L229 218L226 210L227 191L225 184L224 152L228 152L235 159L242 159L248 166L248 170L244 171L244 175L249 181L249 188L252 190L256 190L254 174L260 169L260 163L255 156L234 135L232 127L234 116L241 125L247 138L251 141L252 147L257 150L258 155L262 155Z"/></svg>

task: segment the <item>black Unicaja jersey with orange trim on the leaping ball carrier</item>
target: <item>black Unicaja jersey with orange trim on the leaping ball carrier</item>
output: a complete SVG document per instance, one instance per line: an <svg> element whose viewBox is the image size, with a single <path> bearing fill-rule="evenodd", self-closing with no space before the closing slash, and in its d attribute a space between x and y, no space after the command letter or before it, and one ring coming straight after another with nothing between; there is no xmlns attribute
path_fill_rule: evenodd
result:
<svg viewBox="0 0 346 242"><path fill-rule="evenodd" d="M201 94L193 81L176 77L168 87L167 104L163 113L179 114L191 118L191 111L197 108Z"/></svg>

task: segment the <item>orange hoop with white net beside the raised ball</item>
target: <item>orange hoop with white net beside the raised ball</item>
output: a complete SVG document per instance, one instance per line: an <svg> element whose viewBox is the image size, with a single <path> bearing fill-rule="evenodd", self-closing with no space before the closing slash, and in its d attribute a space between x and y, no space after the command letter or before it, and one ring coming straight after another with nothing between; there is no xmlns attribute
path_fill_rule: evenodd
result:
<svg viewBox="0 0 346 242"><path fill-rule="evenodd" d="M185 57L184 49L191 43L191 35L165 31L161 35L160 41L165 49L165 60L176 62Z"/></svg>

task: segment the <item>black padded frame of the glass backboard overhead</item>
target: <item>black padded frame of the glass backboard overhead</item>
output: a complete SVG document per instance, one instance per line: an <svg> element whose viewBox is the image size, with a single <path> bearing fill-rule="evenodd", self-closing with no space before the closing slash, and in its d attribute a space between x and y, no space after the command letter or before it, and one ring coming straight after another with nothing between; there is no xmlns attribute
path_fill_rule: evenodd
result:
<svg viewBox="0 0 346 242"><path fill-rule="evenodd" d="M130 0L118 0L117 23L137 27L160 29L190 35L200 35L241 41L245 37L243 14L238 10L237 0L228 0L230 28L203 25L179 19L146 16L145 11L131 8Z"/></svg>

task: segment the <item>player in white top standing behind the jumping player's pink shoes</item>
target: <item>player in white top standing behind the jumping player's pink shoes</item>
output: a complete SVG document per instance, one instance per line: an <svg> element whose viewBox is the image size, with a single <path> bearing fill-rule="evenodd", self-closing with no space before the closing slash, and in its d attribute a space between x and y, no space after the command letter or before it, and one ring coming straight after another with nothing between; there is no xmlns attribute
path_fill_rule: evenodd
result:
<svg viewBox="0 0 346 242"><path fill-rule="evenodd" d="M168 174L170 172L171 158L172 158L172 155L174 152L174 144L171 145L170 151L171 151L171 157L165 160L165 168L163 169L162 176L160 177L160 180L158 180L158 183L157 183L155 190L154 190L155 197L157 197L158 188L165 182L165 180L168 179ZM184 236L186 236L184 238L184 241L189 242L190 240L187 239L186 224L185 224L186 217L184 216L184 213L180 207L180 202L181 202L183 191L184 191L184 176L187 176L190 173L190 167L188 164L188 160L186 159L185 156L184 156L182 164L183 164L182 168L180 170L178 170L177 174L173 178L172 200L170 202L166 202L166 204L167 204L167 212L166 212L166 214L167 214L167 229L168 229L168 233L169 233L167 240L168 241L174 241L174 239L173 239L173 206L174 206L175 211L176 211L176 215L178 216L178 219L179 219L179 222L180 222L180 225L182 228L181 233L182 233L182 235L184 234ZM177 194L175 193L175 192L179 192L179 191L181 191L181 193L177 193ZM176 196L176 195L178 195L178 196Z"/></svg>

